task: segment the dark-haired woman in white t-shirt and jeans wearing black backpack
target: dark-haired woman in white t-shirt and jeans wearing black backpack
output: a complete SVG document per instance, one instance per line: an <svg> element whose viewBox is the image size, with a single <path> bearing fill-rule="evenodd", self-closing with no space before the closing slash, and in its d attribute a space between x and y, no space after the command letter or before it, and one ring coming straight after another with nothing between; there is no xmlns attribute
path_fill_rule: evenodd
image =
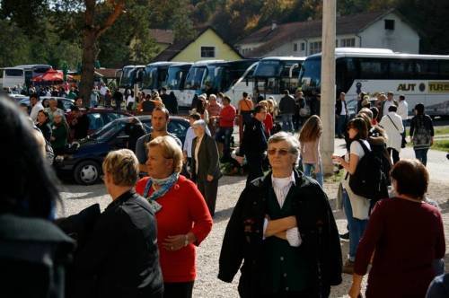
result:
<svg viewBox="0 0 449 298"><path fill-rule="evenodd" d="M349 230L349 258L343 267L343 272L352 274L356 260L358 242L362 238L368 222L370 201L366 197L356 195L349 186L349 176L354 175L357 163L365 156L371 146L366 140L368 129L363 118L353 118L348 122L349 150L343 159L341 156L332 155L332 159L338 162L346 171L342 181L342 199Z"/></svg>

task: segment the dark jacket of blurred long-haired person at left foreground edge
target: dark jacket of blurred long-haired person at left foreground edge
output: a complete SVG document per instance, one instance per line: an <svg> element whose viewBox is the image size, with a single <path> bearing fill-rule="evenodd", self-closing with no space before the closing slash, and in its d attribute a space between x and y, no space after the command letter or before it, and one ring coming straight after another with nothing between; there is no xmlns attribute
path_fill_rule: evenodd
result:
<svg viewBox="0 0 449 298"><path fill-rule="evenodd" d="M75 241L43 219L0 215L0 297L63 298Z"/></svg>

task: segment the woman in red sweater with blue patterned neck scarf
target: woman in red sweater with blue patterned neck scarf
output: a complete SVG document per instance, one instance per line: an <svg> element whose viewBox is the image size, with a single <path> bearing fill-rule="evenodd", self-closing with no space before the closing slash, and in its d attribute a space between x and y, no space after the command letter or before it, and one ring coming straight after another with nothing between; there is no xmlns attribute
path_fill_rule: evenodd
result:
<svg viewBox="0 0 449 298"><path fill-rule="evenodd" d="M146 197L157 220L157 244L163 271L164 297L189 298L195 281L195 246L212 229L206 201L195 184L180 175L182 151L171 136L147 145L149 177L136 192Z"/></svg>

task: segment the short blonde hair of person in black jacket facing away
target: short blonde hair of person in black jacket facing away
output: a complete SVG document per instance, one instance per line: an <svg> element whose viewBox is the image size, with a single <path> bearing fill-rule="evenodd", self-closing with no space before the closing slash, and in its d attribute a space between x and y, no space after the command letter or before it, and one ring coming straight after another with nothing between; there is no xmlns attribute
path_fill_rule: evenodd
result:
<svg viewBox="0 0 449 298"><path fill-rule="evenodd" d="M112 176L115 185L132 187L138 180L138 164L136 155L129 149L111 151L103 161L103 172Z"/></svg>

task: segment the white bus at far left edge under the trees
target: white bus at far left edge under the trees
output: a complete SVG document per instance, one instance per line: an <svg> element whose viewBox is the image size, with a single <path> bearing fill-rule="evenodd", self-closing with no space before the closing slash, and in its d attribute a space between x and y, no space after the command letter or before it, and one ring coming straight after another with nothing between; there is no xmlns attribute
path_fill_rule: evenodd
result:
<svg viewBox="0 0 449 298"><path fill-rule="evenodd" d="M51 66L38 64L5 67L3 69L2 88L30 86L33 77L46 73L49 68Z"/></svg>

